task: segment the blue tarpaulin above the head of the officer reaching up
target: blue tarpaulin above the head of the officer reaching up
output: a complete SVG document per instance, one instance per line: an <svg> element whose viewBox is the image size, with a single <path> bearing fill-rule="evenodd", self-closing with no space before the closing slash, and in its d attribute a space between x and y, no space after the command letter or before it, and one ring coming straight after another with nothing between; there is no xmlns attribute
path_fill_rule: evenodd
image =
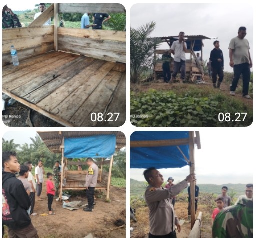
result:
<svg viewBox="0 0 256 238"><path fill-rule="evenodd" d="M188 139L188 131L135 131L130 141L154 141L170 139ZM189 144L179 145L179 148L189 160ZM131 147L130 168L177 168L187 165L177 146Z"/></svg>

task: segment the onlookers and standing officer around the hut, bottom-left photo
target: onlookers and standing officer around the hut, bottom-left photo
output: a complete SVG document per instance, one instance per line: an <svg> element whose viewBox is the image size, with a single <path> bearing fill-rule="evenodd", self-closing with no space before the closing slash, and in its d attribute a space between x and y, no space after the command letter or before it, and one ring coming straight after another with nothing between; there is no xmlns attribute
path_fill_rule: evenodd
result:
<svg viewBox="0 0 256 238"><path fill-rule="evenodd" d="M86 175L86 196L88 205L83 210L92 212L94 208L94 190L97 184L98 166L92 158L87 158L88 173ZM8 227L9 237L38 237L37 230L31 222L30 216L37 215L34 212L35 196L38 201L41 198L42 186L44 182L44 169L41 160L35 168L34 179L32 163L25 162L23 165L18 163L15 152L2 152L2 223ZM17 177L16 174L19 173ZM56 161L53 171L46 174L46 193L48 197L48 214L55 215L52 209L54 197L58 196L60 184L61 166ZM54 181L54 183L53 183ZM58 199L57 199L58 200ZM2 231L4 234L4 226Z"/></svg>

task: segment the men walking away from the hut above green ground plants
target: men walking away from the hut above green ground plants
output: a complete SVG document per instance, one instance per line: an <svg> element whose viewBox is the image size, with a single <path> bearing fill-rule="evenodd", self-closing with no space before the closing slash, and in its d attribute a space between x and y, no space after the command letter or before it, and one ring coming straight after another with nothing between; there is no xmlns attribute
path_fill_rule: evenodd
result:
<svg viewBox="0 0 256 238"><path fill-rule="evenodd" d="M231 39L229 43L229 65L233 68L234 77L230 86L230 95L235 95L238 80L242 75L243 89L242 96L247 99L252 99L249 96L249 82L250 82L250 68L252 67L252 60L250 56L250 46L246 36L246 27L242 26L238 29L238 35ZM214 49L210 53L208 65L209 76L212 77L212 83L214 88L220 88L220 85L224 78L224 58L223 52L219 48L220 44L218 40L213 42ZM181 72L180 78L185 82L186 74L186 56L185 53L190 52L187 49L185 42L184 32L179 33L179 39L174 41L171 45L171 53L174 55L174 71L170 72L170 59L171 54L169 51L164 52L162 56L162 70L164 82L173 83L176 80L176 75ZM200 55L197 53L197 59L201 61ZM217 80L217 76L219 77ZM171 79L170 79L171 78Z"/></svg>

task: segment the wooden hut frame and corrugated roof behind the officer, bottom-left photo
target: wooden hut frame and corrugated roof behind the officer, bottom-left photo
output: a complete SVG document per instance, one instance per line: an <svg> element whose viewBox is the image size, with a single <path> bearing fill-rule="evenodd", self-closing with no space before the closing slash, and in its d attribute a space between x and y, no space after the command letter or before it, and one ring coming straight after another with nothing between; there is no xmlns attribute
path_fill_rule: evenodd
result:
<svg viewBox="0 0 256 238"><path fill-rule="evenodd" d="M61 153L60 198L62 198L63 190L84 190L87 174L87 171L69 171L66 169L67 165L86 165L86 162L68 161L64 157L64 138L114 134L116 135L116 150L125 146L125 135L120 131L37 131L37 133L52 153ZM113 156L110 160L102 158L100 162L95 163L100 167L96 189L105 189L107 192L106 199L109 200ZM103 170L103 165L106 164L109 164L108 172Z"/></svg>

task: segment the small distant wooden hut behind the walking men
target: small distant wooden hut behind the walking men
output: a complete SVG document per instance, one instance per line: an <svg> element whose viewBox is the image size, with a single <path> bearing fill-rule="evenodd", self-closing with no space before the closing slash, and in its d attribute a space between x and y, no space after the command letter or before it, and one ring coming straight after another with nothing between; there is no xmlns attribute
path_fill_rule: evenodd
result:
<svg viewBox="0 0 256 238"><path fill-rule="evenodd" d="M168 36L168 37L158 37L162 41L162 43L166 42L169 46L169 49L154 49L154 58L156 61L156 54L163 54L168 51L171 53L170 47L174 41L176 41L178 36ZM186 73L189 74L190 80L194 81L195 76L200 76L204 81L204 72L203 72L203 61L198 61L195 52L200 51L201 58L203 59L203 39L211 39L204 35L186 35L187 49L190 51L190 59L186 60ZM174 70L174 62L173 59L170 62L170 71ZM157 75L161 74L162 71L162 62L156 62L154 64L154 79L156 80Z"/></svg>

